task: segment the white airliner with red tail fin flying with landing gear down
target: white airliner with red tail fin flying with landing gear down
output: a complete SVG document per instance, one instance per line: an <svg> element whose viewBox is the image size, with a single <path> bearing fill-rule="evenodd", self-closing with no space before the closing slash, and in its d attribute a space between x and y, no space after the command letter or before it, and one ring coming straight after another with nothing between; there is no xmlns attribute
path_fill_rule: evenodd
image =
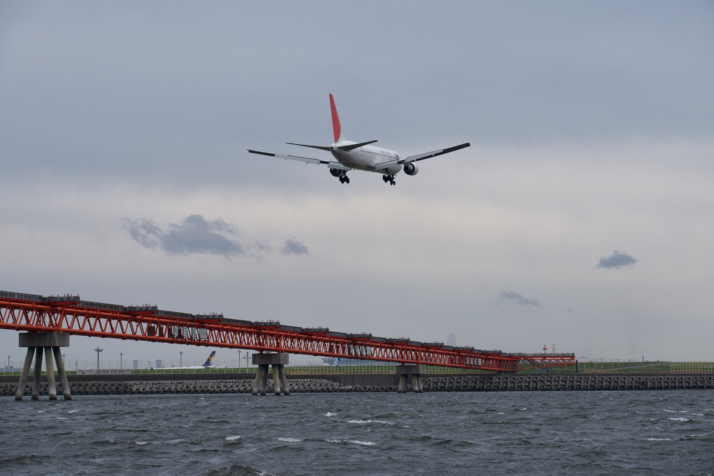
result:
<svg viewBox="0 0 714 476"><path fill-rule="evenodd" d="M419 153L416 156L408 156L402 158L396 151L391 151L387 148L371 146L374 141L353 142L345 139L340 126L340 118L337 115L335 99L330 94L330 108L332 111L332 128L335 136L335 142L331 146L309 146L302 143L288 142L291 146L318 148L323 151L332 153L332 156L337 161L326 161L318 158L286 156L281 153L261 152L246 149L250 153L257 153L262 156L271 156L292 161L300 161L304 163L324 164L330 168L330 173L338 177L341 183L350 183L350 178L347 176L348 171L357 169L361 171L381 173L384 183L394 185L394 176L404 169L404 173L409 176L416 175L419 168L416 166L416 161L423 161L425 158L441 156L445 153L458 151L461 148L471 146L471 143L462 143L458 146L440 148L436 151Z"/></svg>

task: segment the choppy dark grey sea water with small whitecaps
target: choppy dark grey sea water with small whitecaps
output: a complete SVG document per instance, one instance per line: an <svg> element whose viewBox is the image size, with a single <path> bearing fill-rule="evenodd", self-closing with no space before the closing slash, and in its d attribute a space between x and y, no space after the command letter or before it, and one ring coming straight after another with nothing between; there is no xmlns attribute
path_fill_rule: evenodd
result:
<svg viewBox="0 0 714 476"><path fill-rule="evenodd" d="M0 400L3 475L714 473L714 391Z"/></svg>

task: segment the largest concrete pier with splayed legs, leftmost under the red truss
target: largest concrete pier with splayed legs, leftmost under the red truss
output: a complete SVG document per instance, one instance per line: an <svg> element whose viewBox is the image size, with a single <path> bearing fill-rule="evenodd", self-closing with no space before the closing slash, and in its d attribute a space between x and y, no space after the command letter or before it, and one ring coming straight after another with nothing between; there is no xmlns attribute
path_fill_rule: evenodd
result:
<svg viewBox="0 0 714 476"><path fill-rule="evenodd" d="M69 347L69 334L65 333L22 333L20 334L20 347L26 347L27 353L22 364L20 382L17 385L15 400L22 400L25 393L25 385L29 378L32 356L35 356L34 374L32 375L32 400L39 400L40 375L42 374L42 354L45 357L45 368L47 370L47 393L50 400L57 400L57 385L54 379L54 361L57 363L57 372L62 383L62 395L64 400L71 400L69 393L69 382L64 371L64 361L59 351L61 347ZM53 359L54 355L54 359Z"/></svg>

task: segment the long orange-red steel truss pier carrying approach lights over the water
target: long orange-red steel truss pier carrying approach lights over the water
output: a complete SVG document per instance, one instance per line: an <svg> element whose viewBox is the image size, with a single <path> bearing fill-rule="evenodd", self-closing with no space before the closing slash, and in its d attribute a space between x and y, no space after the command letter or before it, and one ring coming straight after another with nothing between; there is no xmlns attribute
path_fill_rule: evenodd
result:
<svg viewBox="0 0 714 476"><path fill-rule="evenodd" d="M573 353L477 350L328 328L298 328L278 321L236 320L222 314L176 313L154 305L94 303L78 295L0 291L0 328L499 372L575 364Z"/></svg>

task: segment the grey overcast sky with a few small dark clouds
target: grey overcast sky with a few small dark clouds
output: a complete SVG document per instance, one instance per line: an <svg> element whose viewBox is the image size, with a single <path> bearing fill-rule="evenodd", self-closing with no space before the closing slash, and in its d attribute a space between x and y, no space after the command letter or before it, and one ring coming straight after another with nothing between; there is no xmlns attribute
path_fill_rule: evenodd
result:
<svg viewBox="0 0 714 476"><path fill-rule="evenodd" d="M710 1L0 1L0 289L714 360L713 58ZM328 158L286 144L328 93L353 141L472 147L393 187L246 153Z"/></svg>

